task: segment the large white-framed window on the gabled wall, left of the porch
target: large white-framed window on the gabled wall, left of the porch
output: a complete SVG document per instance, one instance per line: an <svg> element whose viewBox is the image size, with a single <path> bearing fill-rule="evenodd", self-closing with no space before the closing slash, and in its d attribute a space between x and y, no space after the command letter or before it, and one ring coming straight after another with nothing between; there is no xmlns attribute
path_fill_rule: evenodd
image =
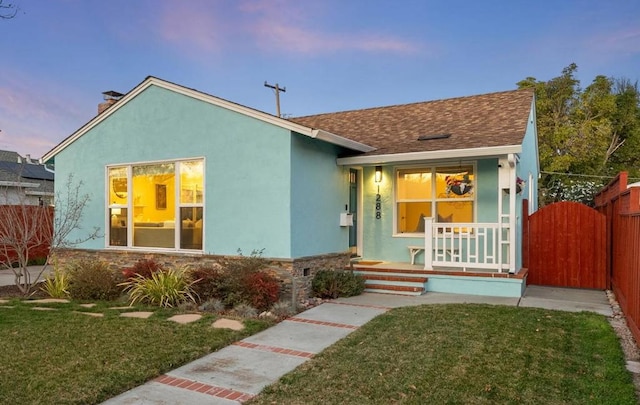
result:
<svg viewBox="0 0 640 405"><path fill-rule="evenodd" d="M109 246L202 250L204 162L109 167Z"/></svg>

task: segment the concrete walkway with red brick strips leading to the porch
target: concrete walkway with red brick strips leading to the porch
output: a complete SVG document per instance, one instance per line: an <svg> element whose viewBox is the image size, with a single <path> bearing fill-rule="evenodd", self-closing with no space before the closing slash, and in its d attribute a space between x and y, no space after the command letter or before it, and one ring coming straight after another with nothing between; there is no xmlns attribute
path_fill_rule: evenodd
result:
<svg viewBox="0 0 640 405"><path fill-rule="evenodd" d="M391 308L478 303L594 311L611 316L603 291L530 286L522 298L427 293L341 298L302 312L217 352L170 371L105 404L238 404Z"/></svg>

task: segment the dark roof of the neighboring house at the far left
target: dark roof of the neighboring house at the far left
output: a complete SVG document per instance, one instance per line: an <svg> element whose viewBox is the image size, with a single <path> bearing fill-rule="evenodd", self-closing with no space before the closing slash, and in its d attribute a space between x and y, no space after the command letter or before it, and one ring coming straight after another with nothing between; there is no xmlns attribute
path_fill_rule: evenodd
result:
<svg viewBox="0 0 640 405"><path fill-rule="evenodd" d="M0 150L0 181L38 183L45 186L46 191L53 191L53 186L49 187L53 180L52 166L40 164L30 155Z"/></svg>

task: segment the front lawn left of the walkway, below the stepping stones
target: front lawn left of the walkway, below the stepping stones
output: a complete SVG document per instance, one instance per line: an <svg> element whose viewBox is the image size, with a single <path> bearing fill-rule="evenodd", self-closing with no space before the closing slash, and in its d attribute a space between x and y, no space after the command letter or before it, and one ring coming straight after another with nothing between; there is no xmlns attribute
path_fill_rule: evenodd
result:
<svg viewBox="0 0 640 405"><path fill-rule="evenodd" d="M167 320L175 310L142 306L154 315L123 318L114 303L3 305L13 308L0 308L0 404L99 403L272 324L246 320L236 332L212 328L213 315L181 325Z"/></svg>

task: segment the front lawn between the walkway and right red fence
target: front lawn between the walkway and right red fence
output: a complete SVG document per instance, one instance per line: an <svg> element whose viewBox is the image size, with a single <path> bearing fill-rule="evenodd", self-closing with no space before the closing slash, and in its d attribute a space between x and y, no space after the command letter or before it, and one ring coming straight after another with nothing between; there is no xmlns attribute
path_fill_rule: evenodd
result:
<svg viewBox="0 0 640 405"><path fill-rule="evenodd" d="M391 310L251 404L636 404L605 317L489 305Z"/></svg>

